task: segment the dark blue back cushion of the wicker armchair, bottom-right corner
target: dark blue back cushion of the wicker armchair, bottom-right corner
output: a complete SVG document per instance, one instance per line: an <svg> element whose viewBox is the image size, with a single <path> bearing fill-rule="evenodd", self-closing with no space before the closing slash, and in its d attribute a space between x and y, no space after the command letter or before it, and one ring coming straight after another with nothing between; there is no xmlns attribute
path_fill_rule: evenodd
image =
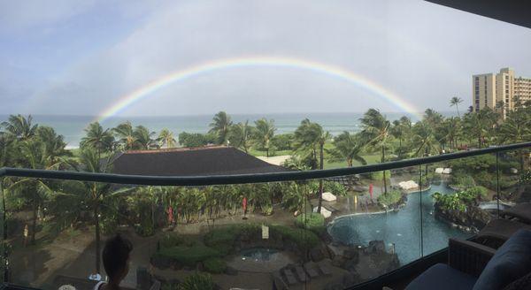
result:
<svg viewBox="0 0 531 290"><path fill-rule="evenodd" d="M531 231L519 230L505 241L481 272L473 290L502 289L531 271Z"/></svg>

